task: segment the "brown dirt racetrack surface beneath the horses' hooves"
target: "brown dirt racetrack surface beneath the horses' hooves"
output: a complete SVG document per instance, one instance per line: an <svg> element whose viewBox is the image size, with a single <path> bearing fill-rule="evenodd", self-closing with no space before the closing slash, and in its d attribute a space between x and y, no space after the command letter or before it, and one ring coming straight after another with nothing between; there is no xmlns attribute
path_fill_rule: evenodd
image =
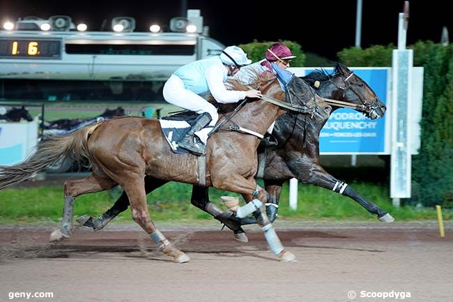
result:
<svg viewBox="0 0 453 302"><path fill-rule="evenodd" d="M52 227L0 227L0 301L399 301L367 292L410 292L404 301L453 301L453 232L436 223L276 223L298 262L280 263L263 234L249 243L218 225L161 225L190 256L175 264L135 225L75 229L47 243ZM355 291L355 299L348 292ZM54 297L8 299L10 292ZM377 295L377 294L376 294Z"/></svg>

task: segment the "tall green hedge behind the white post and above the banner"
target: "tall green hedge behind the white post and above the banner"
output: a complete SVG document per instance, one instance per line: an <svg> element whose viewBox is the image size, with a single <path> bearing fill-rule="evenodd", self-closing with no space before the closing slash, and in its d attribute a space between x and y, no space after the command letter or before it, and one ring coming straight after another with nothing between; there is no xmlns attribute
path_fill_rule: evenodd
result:
<svg viewBox="0 0 453 302"><path fill-rule="evenodd" d="M338 53L347 66L391 66L394 45L351 47ZM453 206L453 45L412 45L414 65L424 67L422 146L413 156L413 196L425 206Z"/></svg>

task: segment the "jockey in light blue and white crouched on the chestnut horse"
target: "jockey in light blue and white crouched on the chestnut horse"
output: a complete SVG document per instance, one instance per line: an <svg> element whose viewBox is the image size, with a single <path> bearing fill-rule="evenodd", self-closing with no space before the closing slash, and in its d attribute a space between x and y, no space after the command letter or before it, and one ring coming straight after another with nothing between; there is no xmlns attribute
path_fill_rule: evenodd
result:
<svg viewBox="0 0 453 302"><path fill-rule="evenodd" d="M177 144L196 154L206 153L206 141L219 118L217 108L202 98L211 93L218 103L236 103L244 98L261 98L261 91L227 90L227 76L235 75L242 66L251 63L247 54L237 46L229 46L220 56L188 63L178 68L164 84L164 99L168 103L200 115L192 128ZM206 125L210 127L204 128Z"/></svg>

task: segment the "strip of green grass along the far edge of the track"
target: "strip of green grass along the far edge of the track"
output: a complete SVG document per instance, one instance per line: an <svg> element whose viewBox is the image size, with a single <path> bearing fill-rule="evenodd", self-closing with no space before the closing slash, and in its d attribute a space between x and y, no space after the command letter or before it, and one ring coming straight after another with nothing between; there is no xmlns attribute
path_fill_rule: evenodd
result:
<svg viewBox="0 0 453 302"><path fill-rule="evenodd" d="M394 216L396 220L435 220L435 209L415 209L410 206L392 207L388 188L372 183L351 183L359 193L375 202ZM162 220L199 220L210 219L210 215L190 204L192 187L183 183L168 183L148 195L148 209L151 218ZM107 210L121 194L121 189L97 192L77 198L75 217L84 214L98 216ZM289 208L289 188L285 185L280 197L279 219L329 218L332 220L375 220L352 199L330 190L299 185L298 209ZM230 192L210 188L210 200L220 204L220 196L234 195ZM222 208L224 206L220 204ZM0 224L57 222L63 210L63 188L60 186L37 188L12 188L0 191ZM444 210L445 220L450 220L452 210ZM116 222L131 222L130 210L121 213Z"/></svg>

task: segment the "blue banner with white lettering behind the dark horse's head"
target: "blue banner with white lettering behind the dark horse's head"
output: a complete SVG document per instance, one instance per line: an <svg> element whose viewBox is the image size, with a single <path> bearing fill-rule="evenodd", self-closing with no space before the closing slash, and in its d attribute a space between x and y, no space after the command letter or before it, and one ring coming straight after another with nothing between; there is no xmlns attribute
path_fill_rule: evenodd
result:
<svg viewBox="0 0 453 302"><path fill-rule="evenodd" d="M313 70L305 68L305 75ZM387 68L351 70L369 84L384 104L387 103ZM355 110L335 110L321 130L321 153L384 153L386 116L371 120Z"/></svg>

